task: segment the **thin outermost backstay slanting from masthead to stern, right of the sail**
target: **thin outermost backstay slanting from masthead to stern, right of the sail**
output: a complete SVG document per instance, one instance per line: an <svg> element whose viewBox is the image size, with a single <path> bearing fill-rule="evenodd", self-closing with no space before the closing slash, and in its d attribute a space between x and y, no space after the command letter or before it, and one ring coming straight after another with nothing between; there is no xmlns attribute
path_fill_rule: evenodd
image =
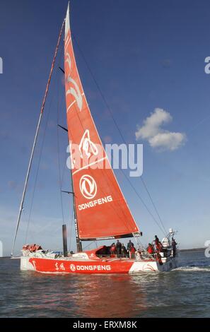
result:
<svg viewBox="0 0 210 332"><path fill-rule="evenodd" d="M74 34L73 34L72 32L71 32L71 35L73 36L73 38L74 38L74 40L75 40L75 42L76 42L76 45L77 45L77 47L78 47L78 50L79 50L79 52L81 53L81 56L83 57L83 60L84 60L85 63L86 63L86 66L87 66L87 68L88 68L88 71L91 73L91 76L92 76L92 78L93 78L93 81L94 81L96 87L98 88L98 91L99 91L101 97L103 98L103 101L105 102L105 105L106 105L108 111L110 112L110 115L111 115L111 117L112 117L112 121L115 123L115 126L116 126L116 128L117 128L117 131L119 132L119 135L120 135L121 138L122 138L122 141L123 141L125 144L127 144L126 141L125 141L125 139L124 139L124 136L122 135L122 131L119 129L119 126L117 125L117 121L115 120L115 117L114 117L113 114L112 114L112 111L111 111L111 109L110 109L110 105L107 103L107 100L105 99L105 95L103 94L102 90L100 89L100 86L98 85L98 82L96 81L95 76L93 75L93 72L91 71L91 67L88 65L88 61L86 60L86 57L84 56L84 54L83 54L83 52L82 52L82 50L81 50L81 47L78 45L78 42L77 42L77 40L76 40L76 37L74 36ZM147 187L145 186L145 182L144 182L142 176L141 176L141 182L144 184L144 188L146 189L146 192L149 193ZM155 204L154 204L154 202L153 202L153 199L151 198L151 194L149 194L148 196L149 196L149 198L151 199L151 203L153 204L153 207L155 208L155 211L157 212L158 210L157 210L157 208L156 208L156 206L155 206ZM158 213L158 218L160 218L160 214L159 214L159 213ZM163 223L162 220L161 220L161 223ZM164 229L165 229L165 227L164 227ZM166 232L165 232L165 233L166 233ZM164 234L164 235L165 235L165 234Z"/></svg>

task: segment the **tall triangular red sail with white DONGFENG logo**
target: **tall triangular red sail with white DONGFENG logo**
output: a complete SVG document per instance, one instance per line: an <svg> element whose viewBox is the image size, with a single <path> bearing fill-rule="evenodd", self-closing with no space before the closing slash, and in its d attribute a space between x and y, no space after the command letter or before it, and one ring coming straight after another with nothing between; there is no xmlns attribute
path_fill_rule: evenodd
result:
<svg viewBox="0 0 210 332"><path fill-rule="evenodd" d="M95 128L78 75L66 13L64 66L66 115L78 236L81 240L139 234Z"/></svg>

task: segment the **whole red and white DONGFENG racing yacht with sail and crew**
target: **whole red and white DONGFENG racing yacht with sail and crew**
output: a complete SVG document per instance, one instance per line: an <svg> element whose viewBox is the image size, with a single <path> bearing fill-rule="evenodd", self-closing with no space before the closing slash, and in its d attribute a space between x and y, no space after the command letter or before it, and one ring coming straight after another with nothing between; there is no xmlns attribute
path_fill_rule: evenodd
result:
<svg viewBox="0 0 210 332"><path fill-rule="evenodd" d="M21 270L41 273L170 271L177 266L177 257L174 257L170 243L170 237L174 235L173 230L170 230L168 236L165 237L163 242L165 249L164 252L160 253L156 251L153 254L149 254L146 249L141 248L139 251L136 250L133 257L129 257L126 255L110 255L109 247L106 246L89 251L82 250L82 242L84 241L134 237L138 242L142 233L136 225L132 212L129 210L127 201L122 194L88 107L74 57L69 5L62 30L64 26L64 75L66 122L68 127L66 131L68 131L71 153L71 194L74 201L74 222L78 252L68 254L66 250L66 227L64 226L64 254L45 251L40 247L25 246L22 250ZM54 54L33 150L30 156L13 247L16 242L35 143L45 107L54 61L57 56L57 49L62 38L62 30Z"/></svg>

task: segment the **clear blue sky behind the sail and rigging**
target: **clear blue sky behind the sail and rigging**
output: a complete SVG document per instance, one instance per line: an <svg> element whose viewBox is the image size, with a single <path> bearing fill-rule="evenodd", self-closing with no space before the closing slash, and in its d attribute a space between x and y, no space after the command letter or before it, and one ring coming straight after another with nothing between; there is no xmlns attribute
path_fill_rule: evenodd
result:
<svg viewBox="0 0 210 332"><path fill-rule="evenodd" d="M30 148L66 6L66 0L1 1L0 57L4 72L0 74L0 239L5 254L11 249ZM185 144L176 150L159 151L144 139L138 141L144 143L144 180L165 228L178 230L182 248L203 247L210 236L210 75L204 72L204 59L210 56L209 9L206 0L202 5L192 0L71 1L71 29L125 140L136 143L137 126L143 126L156 108L173 117L163 126L165 130L185 133ZM111 143L122 143L76 45L75 53L100 136L110 138ZM62 247L56 123L59 108L59 121L65 125L66 111L59 65L64 66L62 49L47 100L17 251L25 242L45 126L28 242L52 249ZM59 146L63 170L67 141L62 132ZM144 233L142 242L151 241L156 233L162 237L122 172L116 174ZM153 211L141 179L131 181ZM66 169L63 189L69 186ZM69 196L63 196L63 203L64 220L69 223Z"/></svg>

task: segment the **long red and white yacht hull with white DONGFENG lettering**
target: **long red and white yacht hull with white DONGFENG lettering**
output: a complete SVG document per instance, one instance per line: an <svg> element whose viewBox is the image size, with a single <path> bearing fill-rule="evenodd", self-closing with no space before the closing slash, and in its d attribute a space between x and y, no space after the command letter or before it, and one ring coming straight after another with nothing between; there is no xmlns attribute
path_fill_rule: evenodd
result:
<svg viewBox="0 0 210 332"><path fill-rule="evenodd" d="M21 257L22 271L37 271L40 273L141 273L168 272L177 268L177 259L170 257L160 264L158 261L147 259L136 261L132 259L101 259L100 261L76 260L73 258L50 259L39 257Z"/></svg>

